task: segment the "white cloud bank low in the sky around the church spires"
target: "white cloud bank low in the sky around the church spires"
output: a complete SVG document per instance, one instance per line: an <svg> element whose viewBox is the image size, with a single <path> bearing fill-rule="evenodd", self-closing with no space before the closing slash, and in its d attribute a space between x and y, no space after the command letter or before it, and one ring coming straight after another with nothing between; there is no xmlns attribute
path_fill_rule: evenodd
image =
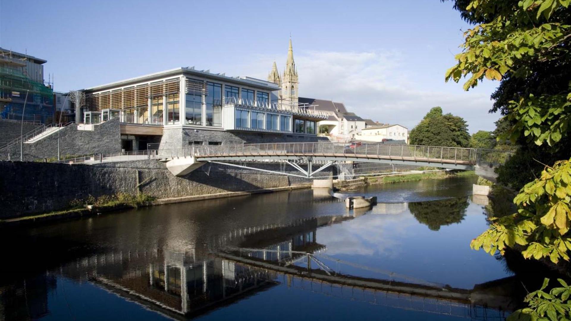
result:
<svg viewBox="0 0 571 321"><path fill-rule="evenodd" d="M459 85L445 84L443 73L416 77L423 71L409 70L411 63L402 57L398 51L295 53L300 96L344 102L349 111L363 118L409 129L434 106L463 117L471 133L494 129L498 115L487 113L492 106L489 89L466 93ZM272 60L260 55L252 65L244 66L242 74L265 79ZM279 62L285 60L276 59L280 70L284 66Z"/></svg>

